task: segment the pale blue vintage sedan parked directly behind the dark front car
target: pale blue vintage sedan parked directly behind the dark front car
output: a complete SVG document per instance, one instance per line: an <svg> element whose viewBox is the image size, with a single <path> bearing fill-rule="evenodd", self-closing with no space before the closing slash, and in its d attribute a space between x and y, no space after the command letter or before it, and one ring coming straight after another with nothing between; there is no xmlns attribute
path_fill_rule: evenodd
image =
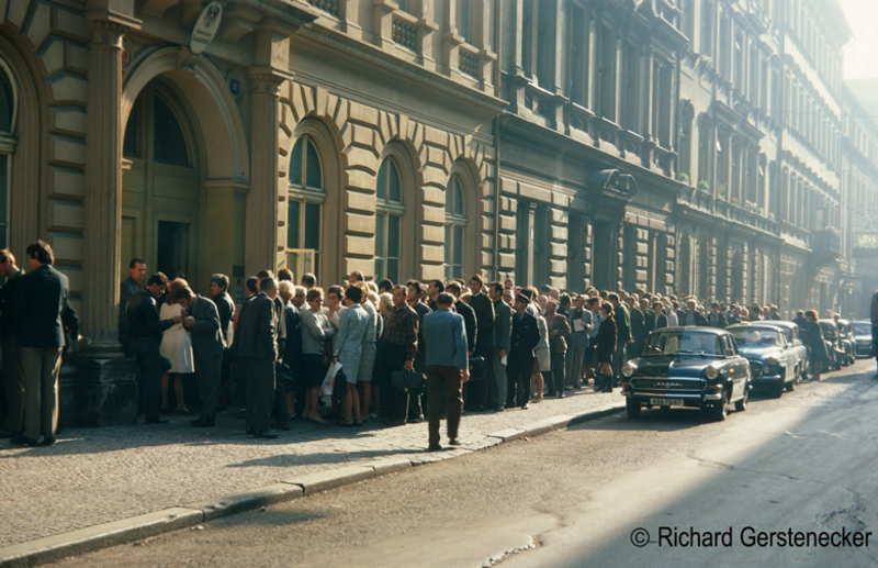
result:
<svg viewBox="0 0 878 568"><path fill-rule="evenodd" d="M768 390L775 398L784 389L792 390L799 381L797 358L790 350L786 334L764 324L730 325L738 350L750 361L750 378L754 388Z"/></svg>

